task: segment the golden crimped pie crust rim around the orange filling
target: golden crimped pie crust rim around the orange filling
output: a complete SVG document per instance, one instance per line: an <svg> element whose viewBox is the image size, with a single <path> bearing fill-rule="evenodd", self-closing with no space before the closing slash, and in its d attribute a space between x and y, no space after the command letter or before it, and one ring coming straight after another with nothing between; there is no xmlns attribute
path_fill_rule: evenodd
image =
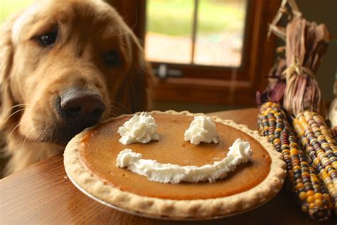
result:
<svg viewBox="0 0 337 225"><path fill-rule="evenodd" d="M173 110L166 112L152 111L149 113L187 116L203 115L200 113L192 114L188 111L176 112ZM125 116L130 115L120 115L116 118ZM257 184L245 192L210 199L162 199L123 191L100 179L100 177L95 174L92 174L90 169L87 169L85 164L80 160L78 150L80 149L82 139L93 127L83 130L68 143L64 152L65 171L68 176L70 176L70 179L88 194L108 204L137 214L143 214L144 216L162 216L171 219L205 219L237 214L249 209L254 209L269 199L272 199L272 197L279 192L279 189L282 188L286 174L286 164L282 160L282 154L274 150L274 147L267 141L266 137L261 137L257 131L250 130L246 125L237 125L232 120L222 120L215 116L211 118L215 122L220 122L224 125L234 127L241 132L245 132L260 142L264 150L267 150L271 159L270 169L267 177L265 177L260 184ZM113 119L114 118L108 119L105 122L109 122ZM114 164L113 160L112 164ZM196 183L196 185L198 185L198 183ZM207 192L207 190L205 190L205 192Z"/></svg>

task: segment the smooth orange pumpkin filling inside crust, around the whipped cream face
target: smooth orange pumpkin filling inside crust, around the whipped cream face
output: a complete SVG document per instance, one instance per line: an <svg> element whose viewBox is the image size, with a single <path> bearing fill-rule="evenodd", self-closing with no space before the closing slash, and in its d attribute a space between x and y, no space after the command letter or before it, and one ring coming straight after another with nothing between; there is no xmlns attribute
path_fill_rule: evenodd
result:
<svg viewBox="0 0 337 225"><path fill-rule="evenodd" d="M245 192L260 184L269 174L271 158L264 147L245 132L216 123L219 143L201 143L193 145L184 140L184 132L191 124L193 117L186 115L152 115L158 124L159 141L147 144L133 143L127 148L139 152L144 159L154 159L164 164L181 166L203 166L213 164L227 157L229 147L240 137L250 142L254 154L250 162L240 164L227 177L216 182L181 182L179 184L164 184L151 182L146 177L116 166L119 152L126 148L120 143L118 128L131 116L119 117L105 122L82 138L78 150L80 160L88 171L124 192L138 194L144 197L159 199L213 199L228 197Z"/></svg>

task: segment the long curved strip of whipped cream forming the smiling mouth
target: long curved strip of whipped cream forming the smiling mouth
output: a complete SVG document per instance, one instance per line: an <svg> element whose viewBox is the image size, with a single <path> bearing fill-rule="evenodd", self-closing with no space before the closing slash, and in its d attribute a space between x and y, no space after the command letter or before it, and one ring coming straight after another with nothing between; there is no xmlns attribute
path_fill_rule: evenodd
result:
<svg viewBox="0 0 337 225"><path fill-rule="evenodd" d="M117 167L127 167L127 169L139 175L146 176L154 182L172 183L179 182L215 182L215 179L226 177L228 172L235 170L238 164L247 162L252 158L250 143L235 140L230 150L221 161L213 164L197 166L180 166L177 164L162 164L156 160L141 159L142 155L125 149L117 156Z"/></svg>

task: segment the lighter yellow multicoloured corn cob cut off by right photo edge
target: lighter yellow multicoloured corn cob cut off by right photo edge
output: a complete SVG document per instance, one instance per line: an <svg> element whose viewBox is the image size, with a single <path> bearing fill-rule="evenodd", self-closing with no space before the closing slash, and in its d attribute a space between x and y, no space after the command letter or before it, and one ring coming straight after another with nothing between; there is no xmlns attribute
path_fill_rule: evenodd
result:
<svg viewBox="0 0 337 225"><path fill-rule="evenodd" d="M337 214L337 145L321 115L309 110L296 115L296 134L309 156L311 164L319 172Z"/></svg>

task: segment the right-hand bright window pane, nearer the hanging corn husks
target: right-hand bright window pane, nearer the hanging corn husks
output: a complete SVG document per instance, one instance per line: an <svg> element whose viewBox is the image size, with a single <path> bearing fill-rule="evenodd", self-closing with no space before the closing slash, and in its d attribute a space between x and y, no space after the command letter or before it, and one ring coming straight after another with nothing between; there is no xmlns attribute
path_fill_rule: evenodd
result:
<svg viewBox="0 0 337 225"><path fill-rule="evenodd" d="M241 64L247 0L199 0L194 63Z"/></svg>

